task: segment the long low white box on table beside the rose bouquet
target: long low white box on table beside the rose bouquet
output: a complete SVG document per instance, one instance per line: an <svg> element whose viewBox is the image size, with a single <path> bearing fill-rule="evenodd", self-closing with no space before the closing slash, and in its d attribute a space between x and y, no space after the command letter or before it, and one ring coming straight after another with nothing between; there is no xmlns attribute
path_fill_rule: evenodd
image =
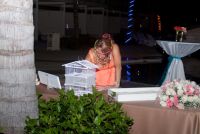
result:
<svg viewBox="0 0 200 134"><path fill-rule="evenodd" d="M108 95L118 102L155 100L160 87L111 88Z"/></svg>

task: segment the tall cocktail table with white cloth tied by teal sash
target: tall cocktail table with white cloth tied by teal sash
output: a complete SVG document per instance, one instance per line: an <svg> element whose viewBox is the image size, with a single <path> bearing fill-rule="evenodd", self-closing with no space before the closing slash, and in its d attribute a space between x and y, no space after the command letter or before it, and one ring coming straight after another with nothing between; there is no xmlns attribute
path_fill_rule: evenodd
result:
<svg viewBox="0 0 200 134"><path fill-rule="evenodd" d="M174 79L185 80L185 72L181 58L192 54L200 49L200 43L161 41L157 43L169 55L169 62L161 78L162 85L165 81Z"/></svg>

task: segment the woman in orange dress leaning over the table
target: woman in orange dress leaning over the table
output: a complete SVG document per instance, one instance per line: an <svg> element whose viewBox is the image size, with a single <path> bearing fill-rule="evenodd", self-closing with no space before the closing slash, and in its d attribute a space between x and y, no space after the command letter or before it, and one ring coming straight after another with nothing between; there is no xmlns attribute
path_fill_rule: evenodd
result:
<svg viewBox="0 0 200 134"><path fill-rule="evenodd" d="M96 64L96 86L98 90L119 87L121 79L121 54L110 34L103 34L91 48L86 59Z"/></svg>

